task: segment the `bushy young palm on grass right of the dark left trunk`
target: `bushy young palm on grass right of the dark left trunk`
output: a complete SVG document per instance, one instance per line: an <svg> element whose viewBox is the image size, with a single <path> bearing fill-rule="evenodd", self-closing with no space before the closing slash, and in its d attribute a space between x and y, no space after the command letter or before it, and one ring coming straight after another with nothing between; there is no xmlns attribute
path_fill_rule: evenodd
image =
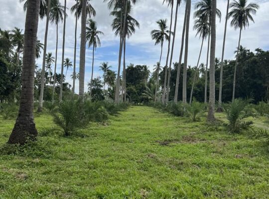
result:
<svg viewBox="0 0 269 199"><path fill-rule="evenodd" d="M64 131L65 136L86 127L89 117L84 112L81 100L65 100L58 103L53 113L53 121Z"/></svg>

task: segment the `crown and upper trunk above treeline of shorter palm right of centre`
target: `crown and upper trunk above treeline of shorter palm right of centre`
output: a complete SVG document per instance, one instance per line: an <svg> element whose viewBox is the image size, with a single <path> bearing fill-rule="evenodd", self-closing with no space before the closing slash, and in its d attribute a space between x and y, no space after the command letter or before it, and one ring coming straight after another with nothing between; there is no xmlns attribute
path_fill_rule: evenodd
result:
<svg viewBox="0 0 269 199"><path fill-rule="evenodd" d="M169 30L167 30L167 19L159 19L156 21L156 23L159 26L158 30L152 30L151 31L151 38L152 40L155 40L155 45L160 44L161 45L161 53L160 53L160 59L158 63L161 63L161 56L162 56L162 47L164 40L169 39Z"/></svg>

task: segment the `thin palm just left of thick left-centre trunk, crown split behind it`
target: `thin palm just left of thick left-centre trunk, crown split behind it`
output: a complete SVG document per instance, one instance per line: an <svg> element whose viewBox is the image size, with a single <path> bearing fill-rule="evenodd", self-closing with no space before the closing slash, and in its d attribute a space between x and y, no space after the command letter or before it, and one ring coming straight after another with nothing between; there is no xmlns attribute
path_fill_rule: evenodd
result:
<svg viewBox="0 0 269 199"><path fill-rule="evenodd" d="M86 7L87 15L89 17L95 16L96 12L90 3L90 0L87 0L86 6L87 6ZM71 12L75 12L75 16L76 16L75 46L74 46L74 70L73 70L73 73L75 74L76 73L76 56L77 56L77 25L78 25L78 19L81 15L81 12L82 12L82 1L81 0L76 0L76 3L71 7ZM76 79L73 79L72 95L75 94L75 83L76 83Z"/></svg>

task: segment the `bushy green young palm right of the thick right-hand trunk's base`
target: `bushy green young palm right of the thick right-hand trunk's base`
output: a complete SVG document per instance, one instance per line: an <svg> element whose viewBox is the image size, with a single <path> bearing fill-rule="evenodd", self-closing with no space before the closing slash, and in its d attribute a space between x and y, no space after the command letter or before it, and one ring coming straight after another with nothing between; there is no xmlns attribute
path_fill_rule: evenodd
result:
<svg viewBox="0 0 269 199"><path fill-rule="evenodd" d="M253 124L252 121L244 120L253 116L253 111L249 108L250 102L251 100L235 99L234 102L224 104L230 132L239 133L242 129L248 129Z"/></svg>

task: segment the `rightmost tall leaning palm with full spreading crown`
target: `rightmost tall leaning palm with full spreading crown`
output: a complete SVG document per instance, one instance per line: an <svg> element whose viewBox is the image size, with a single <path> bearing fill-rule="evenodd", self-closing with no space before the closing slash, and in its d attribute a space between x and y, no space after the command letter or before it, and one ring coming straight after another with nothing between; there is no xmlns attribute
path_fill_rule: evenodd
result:
<svg viewBox="0 0 269 199"><path fill-rule="evenodd" d="M248 3L248 0L234 0L230 4L230 8L232 10L228 14L228 18L232 18L231 26L235 29L239 28L239 40L238 40L238 48L240 47L241 34L243 28L249 27L250 21L254 22L252 14L256 14L259 5L256 3ZM236 86L236 69L238 64L238 52L236 54L236 63L235 63L235 71L234 71L234 83L233 83L233 98L232 101L235 100L235 86Z"/></svg>

